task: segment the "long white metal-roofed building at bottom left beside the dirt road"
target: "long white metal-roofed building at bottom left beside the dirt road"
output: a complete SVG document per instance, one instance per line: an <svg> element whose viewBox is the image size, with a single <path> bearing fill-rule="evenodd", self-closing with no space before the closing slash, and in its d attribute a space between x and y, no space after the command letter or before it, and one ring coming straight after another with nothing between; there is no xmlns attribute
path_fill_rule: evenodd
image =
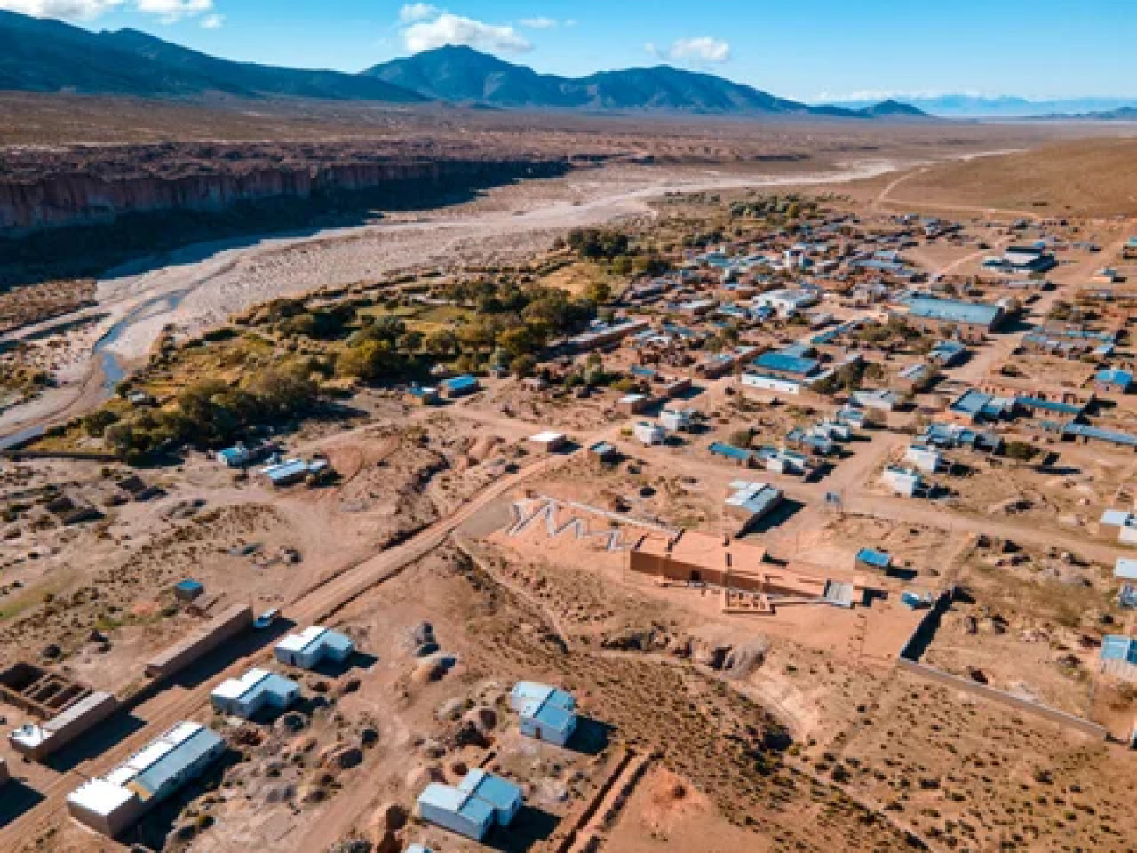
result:
<svg viewBox="0 0 1137 853"><path fill-rule="evenodd" d="M102 777L67 797L80 823L114 838L225 752L225 742L196 722L181 722Z"/></svg>

